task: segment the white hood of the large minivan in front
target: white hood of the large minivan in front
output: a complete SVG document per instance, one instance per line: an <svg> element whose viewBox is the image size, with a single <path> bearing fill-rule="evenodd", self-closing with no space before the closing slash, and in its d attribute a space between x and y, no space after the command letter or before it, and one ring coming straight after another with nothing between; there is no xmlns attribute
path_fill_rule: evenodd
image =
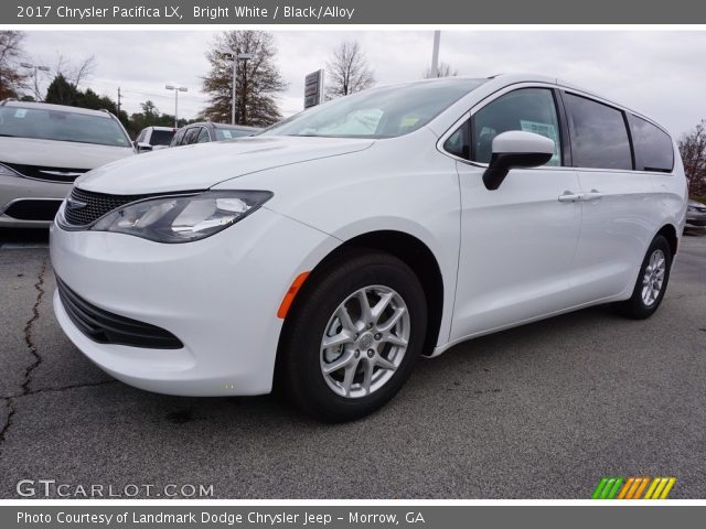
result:
<svg viewBox="0 0 706 529"><path fill-rule="evenodd" d="M339 156L367 149L374 140L253 137L164 149L121 160L86 173L82 190L149 194L205 190L267 169Z"/></svg>

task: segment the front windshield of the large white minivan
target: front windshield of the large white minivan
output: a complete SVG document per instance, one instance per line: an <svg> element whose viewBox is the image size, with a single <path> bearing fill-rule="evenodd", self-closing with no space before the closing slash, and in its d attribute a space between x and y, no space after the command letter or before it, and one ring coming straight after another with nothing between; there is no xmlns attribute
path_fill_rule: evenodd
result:
<svg viewBox="0 0 706 529"><path fill-rule="evenodd" d="M394 138L424 127L485 80L448 77L375 88L304 110L261 136Z"/></svg>

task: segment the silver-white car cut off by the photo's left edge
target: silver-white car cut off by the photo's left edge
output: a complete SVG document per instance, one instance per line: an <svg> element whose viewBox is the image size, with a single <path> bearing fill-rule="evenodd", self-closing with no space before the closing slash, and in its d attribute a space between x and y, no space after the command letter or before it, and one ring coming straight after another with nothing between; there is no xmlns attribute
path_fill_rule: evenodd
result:
<svg viewBox="0 0 706 529"><path fill-rule="evenodd" d="M132 154L108 111L0 102L0 227L49 226L76 177Z"/></svg>

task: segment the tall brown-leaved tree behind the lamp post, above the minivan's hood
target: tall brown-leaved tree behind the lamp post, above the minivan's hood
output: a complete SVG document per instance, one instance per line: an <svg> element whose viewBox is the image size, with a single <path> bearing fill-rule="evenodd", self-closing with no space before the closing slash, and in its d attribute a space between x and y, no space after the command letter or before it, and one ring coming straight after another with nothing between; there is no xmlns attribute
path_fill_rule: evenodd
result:
<svg viewBox="0 0 706 529"><path fill-rule="evenodd" d="M250 53L249 61L236 61L235 122L266 127L281 119L276 96L285 88L275 55L271 33L265 31L227 31L216 37L206 57L211 72L203 78L203 90L210 95L204 116L216 122L231 122L233 62L224 50Z"/></svg>

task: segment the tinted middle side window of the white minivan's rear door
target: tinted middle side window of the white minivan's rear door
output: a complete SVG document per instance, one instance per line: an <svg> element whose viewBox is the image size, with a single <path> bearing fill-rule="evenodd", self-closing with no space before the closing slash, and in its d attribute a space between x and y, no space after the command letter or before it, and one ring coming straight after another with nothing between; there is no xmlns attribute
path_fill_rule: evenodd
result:
<svg viewBox="0 0 706 529"><path fill-rule="evenodd" d="M564 94L576 168L632 169L632 151L621 110Z"/></svg>

